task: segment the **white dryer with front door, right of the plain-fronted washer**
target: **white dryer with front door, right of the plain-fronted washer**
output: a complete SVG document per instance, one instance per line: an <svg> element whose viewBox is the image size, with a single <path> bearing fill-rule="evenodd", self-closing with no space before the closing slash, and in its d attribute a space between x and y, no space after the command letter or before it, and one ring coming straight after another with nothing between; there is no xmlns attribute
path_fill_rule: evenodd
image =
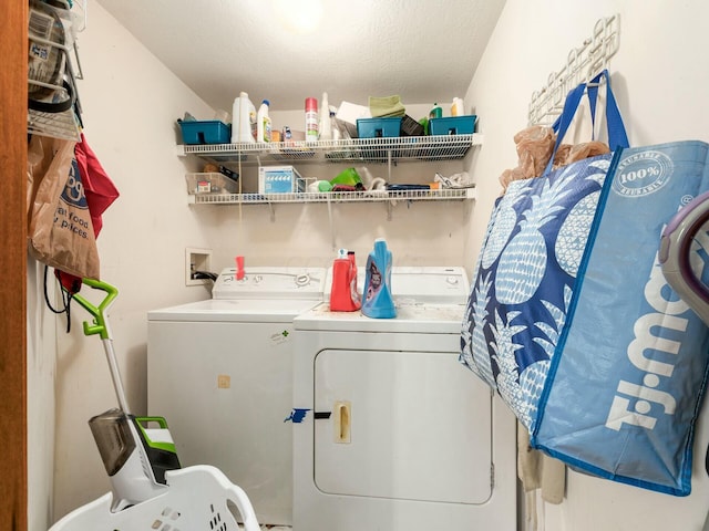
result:
<svg viewBox="0 0 709 531"><path fill-rule="evenodd" d="M294 321L294 531L515 530L514 416L458 361L464 270L391 287L395 319Z"/></svg>

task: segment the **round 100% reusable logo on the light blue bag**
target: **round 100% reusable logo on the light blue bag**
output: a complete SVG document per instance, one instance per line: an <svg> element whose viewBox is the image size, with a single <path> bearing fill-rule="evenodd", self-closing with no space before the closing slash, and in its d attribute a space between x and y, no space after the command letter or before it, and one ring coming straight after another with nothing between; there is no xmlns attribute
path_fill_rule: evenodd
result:
<svg viewBox="0 0 709 531"><path fill-rule="evenodd" d="M627 197L654 194L672 176L672 160L659 152L641 152L625 157L618 164L613 189Z"/></svg>

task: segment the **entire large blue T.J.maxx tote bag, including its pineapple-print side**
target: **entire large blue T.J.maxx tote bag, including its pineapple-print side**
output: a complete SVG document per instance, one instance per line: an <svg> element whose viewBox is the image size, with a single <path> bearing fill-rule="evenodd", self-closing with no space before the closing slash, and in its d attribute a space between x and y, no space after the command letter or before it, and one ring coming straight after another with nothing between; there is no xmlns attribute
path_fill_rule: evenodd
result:
<svg viewBox="0 0 709 531"><path fill-rule="evenodd" d="M567 107L579 97L569 93ZM497 202L461 362L497 389L533 447L578 470L686 496L709 334L665 282L657 253L664 226L709 189L709 146L610 145L620 146L613 157L513 183ZM707 256L693 246L695 269Z"/></svg>

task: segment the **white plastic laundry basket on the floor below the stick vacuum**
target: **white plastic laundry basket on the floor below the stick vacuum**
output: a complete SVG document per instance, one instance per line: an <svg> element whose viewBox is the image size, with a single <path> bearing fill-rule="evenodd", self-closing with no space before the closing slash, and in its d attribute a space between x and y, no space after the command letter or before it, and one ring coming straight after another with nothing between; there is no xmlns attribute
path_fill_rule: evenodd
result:
<svg viewBox="0 0 709 531"><path fill-rule="evenodd" d="M259 531L246 492L217 468L199 465L165 473L168 489L111 512L111 492L66 514L49 531ZM237 510L240 527L229 506Z"/></svg>

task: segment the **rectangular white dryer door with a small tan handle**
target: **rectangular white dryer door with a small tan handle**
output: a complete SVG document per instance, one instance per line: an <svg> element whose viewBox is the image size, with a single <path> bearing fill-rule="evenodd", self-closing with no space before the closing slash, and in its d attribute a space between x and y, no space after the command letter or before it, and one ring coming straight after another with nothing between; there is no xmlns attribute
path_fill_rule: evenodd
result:
<svg viewBox="0 0 709 531"><path fill-rule="evenodd" d="M321 351L316 485L333 494L484 503L491 409L490 388L461 369L456 353Z"/></svg>

